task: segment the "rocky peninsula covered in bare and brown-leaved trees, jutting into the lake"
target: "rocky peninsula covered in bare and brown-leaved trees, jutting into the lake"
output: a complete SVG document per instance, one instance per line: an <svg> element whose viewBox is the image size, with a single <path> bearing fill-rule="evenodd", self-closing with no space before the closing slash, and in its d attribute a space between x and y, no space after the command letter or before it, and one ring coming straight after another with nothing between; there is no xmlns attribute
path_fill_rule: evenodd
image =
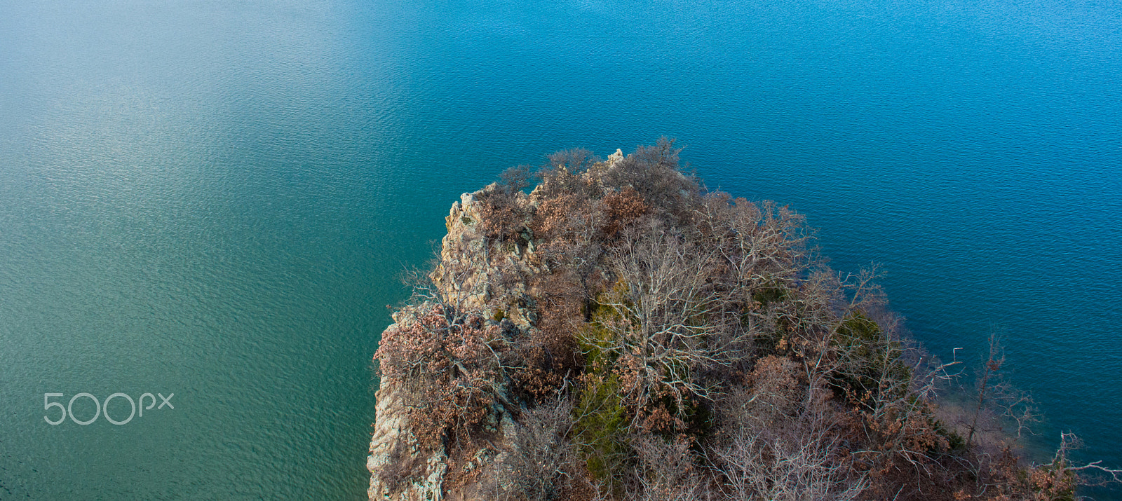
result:
<svg viewBox="0 0 1122 501"><path fill-rule="evenodd" d="M1034 409L996 343L976 371L926 354L875 269L830 269L802 215L707 189L679 151L565 150L452 205L375 354L371 500L1060 500L1120 480L1073 464L1070 435L1020 458Z"/></svg>

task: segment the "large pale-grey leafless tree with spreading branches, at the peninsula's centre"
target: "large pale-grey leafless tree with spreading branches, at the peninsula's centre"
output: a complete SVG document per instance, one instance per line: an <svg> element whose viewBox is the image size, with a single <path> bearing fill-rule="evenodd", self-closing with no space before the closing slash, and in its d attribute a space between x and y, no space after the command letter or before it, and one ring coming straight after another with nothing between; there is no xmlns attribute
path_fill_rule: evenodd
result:
<svg viewBox="0 0 1122 501"><path fill-rule="evenodd" d="M709 399L715 389L701 371L747 355L739 321L709 278L717 258L657 224L629 231L613 250L618 281L598 297L605 314L585 341L616 361L629 402L665 395L683 412L687 398Z"/></svg>

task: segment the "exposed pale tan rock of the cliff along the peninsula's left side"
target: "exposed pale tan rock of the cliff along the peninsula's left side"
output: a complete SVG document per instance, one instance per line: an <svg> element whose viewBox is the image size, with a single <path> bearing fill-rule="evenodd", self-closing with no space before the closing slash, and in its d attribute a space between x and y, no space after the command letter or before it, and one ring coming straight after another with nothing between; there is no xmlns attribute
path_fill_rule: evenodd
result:
<svg viewBox="0 0 1122 501"><path fill-rule="evenodd" d="M589 166L582 173L586 183L599 185L604 171L623 160L622 150L608 156L605 161ZM601 186L605 193L609 188ZM535 235L530 230L528 219L540 198L535 191L531 195L500 192L491 184L475 193L465 193L452 204L444 219L448 234L441 241L440 262L431 272L432 284L445 304L454 305L463 312L476 312L488 318L488 324L502 322L504 330L516 330L523 334L536 328L534 296L540 291L528 290L533 277L550 273L546 260L541 259L535 244ZM517 234L506 238L487 238L489 217L494 215L494 197L503 198L503 206L514 207L514 213L526 221L515 223ZM535 294L537 293L537 294ZM394 314L394 324L386 333L399 328L408 318L406 310ZM386 335L384 334L384 337ZM486 470L502 463L504 456L514 454L517 426L513 415L521 408L509 395L497 395L487 418L485 433L490 437L485 448L469 452L469 461L451 461L448 451L424 453L416 444L408 423L411 392L401 382L383 381L375 393L377 398L374 434L370 438L370 455L367 470L370 471L370 500L378 501L438 501L438 500L482 500L476 494L480 489L472 477L475 470ZM447 448L447 447L445 447ZM461 457L458 455L457 457ZM395 472L411 473L402 479Z"/></svg>

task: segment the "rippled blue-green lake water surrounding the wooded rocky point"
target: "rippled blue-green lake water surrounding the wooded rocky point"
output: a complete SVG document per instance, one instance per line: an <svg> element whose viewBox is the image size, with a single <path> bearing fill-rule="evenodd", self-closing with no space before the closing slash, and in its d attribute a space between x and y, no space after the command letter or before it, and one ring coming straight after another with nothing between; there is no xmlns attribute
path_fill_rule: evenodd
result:
<svg viewBox="0 0 1122 501"><path fill-rule="evenodd" d="M459 193L662 134L836 268L881 263L936 354L1002 328L1034 446L1122 466L1120 27L1059 0L0 0L0 499L361 498L385 305ZM175 408L52 426L52 392Z"/></svg>

